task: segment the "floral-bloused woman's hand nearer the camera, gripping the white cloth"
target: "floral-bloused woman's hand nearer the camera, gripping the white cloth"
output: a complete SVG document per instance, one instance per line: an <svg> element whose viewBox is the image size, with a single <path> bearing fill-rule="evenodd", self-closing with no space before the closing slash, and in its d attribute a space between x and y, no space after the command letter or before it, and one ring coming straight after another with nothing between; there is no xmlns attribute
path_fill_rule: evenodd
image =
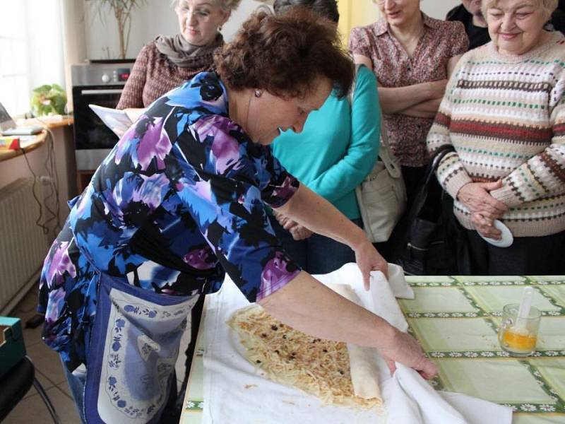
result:
<svg viewBox="0 0 565 424"><path fill-rule="evenodd" d="M392 327L392 326L391 326ZM403 333L392 327L393 335L386 346L377 348L381 356L386 360L391 375L396 370L395 363L414 368L425 379L432 379L437 374L437 367L431 360L425 357L420 344L410 334Z"/></svg>

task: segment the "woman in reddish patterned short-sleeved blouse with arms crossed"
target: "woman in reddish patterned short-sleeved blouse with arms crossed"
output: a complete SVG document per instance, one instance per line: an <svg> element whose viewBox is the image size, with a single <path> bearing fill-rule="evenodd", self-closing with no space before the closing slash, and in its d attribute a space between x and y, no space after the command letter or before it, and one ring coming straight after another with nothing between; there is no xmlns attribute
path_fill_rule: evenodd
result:
<svg viewBox="0 0 565 424"><path fill-rule="evenodd" d="M410 207L428 163L426 136L469 41L462 23L429 18L420 11L420 0L374 1L383 17L353 28L350 50L379 81L384 124L402 165Z"/></svg>

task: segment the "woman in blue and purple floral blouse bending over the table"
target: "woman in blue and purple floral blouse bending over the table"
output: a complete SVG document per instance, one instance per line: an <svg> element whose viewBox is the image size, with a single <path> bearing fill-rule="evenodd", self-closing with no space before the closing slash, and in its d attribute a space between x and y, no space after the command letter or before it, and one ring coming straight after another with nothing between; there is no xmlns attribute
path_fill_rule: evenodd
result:
<svg viewBox="0 0 565 424"><path fill-rule="evenodd" d="M267 147L280 129L301 131L333 88L347 93L353 66L335 29L307 11L257 13L215 64L218 73L155 100L124 134L45 259L43 338L61 355L83 422L160 419L186 315L225 272L290 326L436 372L413 338L301 271L263 211L349 245L367 284L371 270L386 273L364 232Z"/></svg>

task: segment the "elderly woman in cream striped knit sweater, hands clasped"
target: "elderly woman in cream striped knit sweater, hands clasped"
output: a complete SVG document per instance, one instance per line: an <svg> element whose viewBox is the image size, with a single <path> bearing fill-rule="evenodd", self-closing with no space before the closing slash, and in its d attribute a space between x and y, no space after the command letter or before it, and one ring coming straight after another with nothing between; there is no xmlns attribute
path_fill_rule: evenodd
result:
<svg viewBox="0 0 565 424"><path fill-rule="evenodd" d="M453 196L475 275L565 273L565 37L557 0L485 0L492 42L460 59L429 131L451 144L437 177ZM501 239L495 220L513 235Z"/></svg>

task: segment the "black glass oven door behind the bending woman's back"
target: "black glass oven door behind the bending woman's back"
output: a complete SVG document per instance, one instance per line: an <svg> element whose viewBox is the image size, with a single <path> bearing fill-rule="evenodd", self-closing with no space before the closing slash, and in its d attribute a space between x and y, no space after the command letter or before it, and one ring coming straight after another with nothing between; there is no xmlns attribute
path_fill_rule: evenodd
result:
<svg viewBox="0 0 565 424"><path fill-rule="evenodd" d="M76 167L95 170L118 141L88 105L116 107L122 87L73 87Z"/></svg>

